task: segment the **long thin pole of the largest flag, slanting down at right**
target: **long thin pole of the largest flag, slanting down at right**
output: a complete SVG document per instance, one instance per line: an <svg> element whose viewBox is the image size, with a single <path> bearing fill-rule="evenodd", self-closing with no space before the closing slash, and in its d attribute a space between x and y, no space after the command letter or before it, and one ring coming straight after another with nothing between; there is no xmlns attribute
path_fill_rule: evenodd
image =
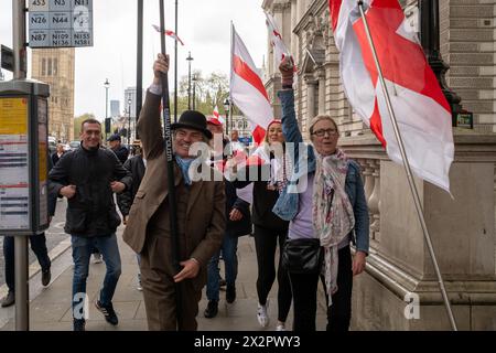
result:
<svg viewBox="0 0 496 353"><path fill-rule="evenodd" d="M436 257L435 257L435 254L434 254L434 248L432 246L431 236L429 235L429 231L428 231L428 227L427 227L427 224L425 224L425 218L423 216L422 206L421 206L421 203L420 203L419 192L418 192L416 183L413 181L413 174L411 172L410 163L409 163L408 158L407 158L407 152L405 150L403 140L402 140L401 133L399 131L399 127L398 127L398 122L397 122L397 119L396 119L395 111L392 109L391 100L390 100L390 97L389 97L389 92L388 92L388 89L386 87L386 81L384 79L382 69L380 67L380 63L379 63L379 58L377 56L376 47L374 45L374 40L373 40L373 38L370 35L370 30L368 28L367 18L365 17L364 2L362 0L359 0L359 1L357 1L357 3L358 3L358 8L360 10L362 20L364 21L364 24L365 24L365 32L367 33L368 44L370 45L370 50L373 52L373 56L374 56L374 61L376 63L377 72L379 74L380 85L382 86L382 92L384 92L384 95L386 97L386 105L387 105L388 111L389 111L389 118L391 119L392 129L395 131L395 136L396 136L396 139L398 141L398 147L400 149L401 158L403 160L405 171L407 172L408 183L410 184L410 190L411 190L411 193L412 193L412 196L413 196L417 214L419 216L419 221L420 221L420 224L421 224L422 231L423 231L423 236L425 238L425 242L427 242L427 245L428 245L428 249L429 249L429 253L431 255L432 264L434 266L435 275L438 277L438 284L439 284L439 287L441 289L441 295L443 297L443 301L444 301L444 306L446 308L448 317L450 319L450 323L451 323L451 327L452 327L453 331L457 331L456 322L454 320L453 312L451 310L450 300L448 298L446 288L444 287L444 281L443 281L443 278L441 276L441 271L439 269L438 260L436 260Z"/></svg>

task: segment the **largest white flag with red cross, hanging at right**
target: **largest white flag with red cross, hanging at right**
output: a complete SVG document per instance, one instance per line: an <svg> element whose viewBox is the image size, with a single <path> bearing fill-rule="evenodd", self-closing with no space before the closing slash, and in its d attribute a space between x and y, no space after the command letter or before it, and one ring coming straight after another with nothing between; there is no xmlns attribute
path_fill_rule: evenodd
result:
<svg viewBox="0 0 496 353"><path fill-rule="evenodd" d="M346 97L389 158L402 163L357 1L328 0L328 6ZM364 8L411 169L450 192L450 105L398 0L365 0Z"/></svg>

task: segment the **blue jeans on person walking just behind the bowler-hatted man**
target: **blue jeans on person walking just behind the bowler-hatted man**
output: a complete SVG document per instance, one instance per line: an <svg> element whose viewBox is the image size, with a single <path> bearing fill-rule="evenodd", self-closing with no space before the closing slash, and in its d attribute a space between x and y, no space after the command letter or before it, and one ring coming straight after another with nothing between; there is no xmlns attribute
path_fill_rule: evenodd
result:
<svg viewBox="0 0 496 353"><path fill-rule="evenodd" d="M218 257L220 250L223 252L223 259L226 266L226 284L228 287L234 287L236 277L238 276L238 256L236 254L238 250L238 237L226 234L220 249L216 252L208 261L206 295L208 300L214 301L218 301Z"/></svg>

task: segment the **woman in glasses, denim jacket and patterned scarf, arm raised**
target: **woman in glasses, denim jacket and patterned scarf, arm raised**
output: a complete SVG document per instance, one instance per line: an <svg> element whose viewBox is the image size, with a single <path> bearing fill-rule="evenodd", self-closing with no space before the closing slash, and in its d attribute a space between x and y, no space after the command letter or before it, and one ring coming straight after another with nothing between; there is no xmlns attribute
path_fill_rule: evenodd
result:
<svg viewBox="0 0 496 353"><path fill-rule="evenodd" d="M293 64L285 60L279 68L282 130L288 142L303 143L294 111ZM319 278L327 295L327 330L348 330L353 276L365 269L369 244L365 191L358 164L337 148L338 137L337 125L330 116L312 119L312 145L294 148L292 176L273 207L279 217L290 221L289 242L319 239L324 254L322 267L316 271L289 271L294 331L315 330ZM356 245L353 259L351 242Z"/></svg>

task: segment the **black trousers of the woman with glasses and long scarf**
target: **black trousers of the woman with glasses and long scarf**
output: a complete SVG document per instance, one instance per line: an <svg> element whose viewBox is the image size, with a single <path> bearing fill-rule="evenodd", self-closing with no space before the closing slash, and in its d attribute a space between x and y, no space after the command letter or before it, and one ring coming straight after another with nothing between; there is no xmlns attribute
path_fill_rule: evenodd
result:
<svg viewBox="0 0 496 353"><path fill-rule="evenodd" d="M333 304L327 306L327 331L348 331L352 319L352 253L349 246L338 250L337 291L333 295ZM289 274L293 291L294 321L293 331L315 331L316 292L319 274ZM322 284L325 288L325 280ZM324 291L325 292L325 291ZM326 302L327 302L327 297Z"/></svg>

